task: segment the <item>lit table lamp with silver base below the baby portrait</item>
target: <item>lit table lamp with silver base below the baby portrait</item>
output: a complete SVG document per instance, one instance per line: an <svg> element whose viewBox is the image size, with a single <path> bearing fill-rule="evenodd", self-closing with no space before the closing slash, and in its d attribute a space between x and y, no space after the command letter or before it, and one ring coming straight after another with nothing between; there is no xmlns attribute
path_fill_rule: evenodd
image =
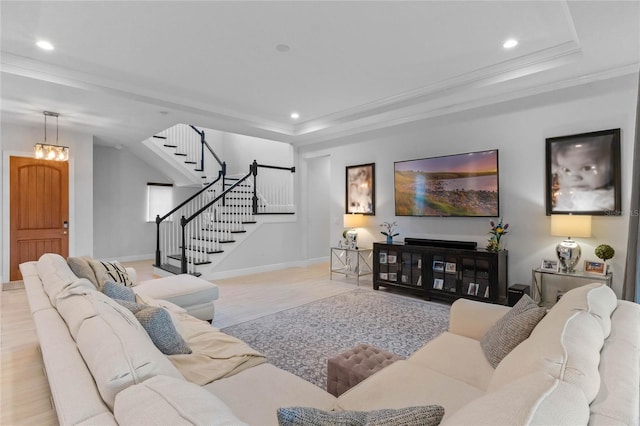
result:
<svg viewBox="0 0 640 426"><path fill-rule="evenodd" d="M575 272L582 250L571 237L591 237L591 216L551 215L551 235L567 237L556 246L556 254L563 272Z"/></svg>

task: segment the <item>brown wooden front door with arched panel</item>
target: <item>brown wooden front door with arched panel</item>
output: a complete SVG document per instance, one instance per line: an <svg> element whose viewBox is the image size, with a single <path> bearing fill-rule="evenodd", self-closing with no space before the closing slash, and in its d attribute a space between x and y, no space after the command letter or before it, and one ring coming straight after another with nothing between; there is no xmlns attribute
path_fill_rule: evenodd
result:
<svg viewBox="0 0 640 426"><path fill-rule="evenodd" d="M44 253L69 255L69 163L10 158L11 281L18 265Z"/></svg>

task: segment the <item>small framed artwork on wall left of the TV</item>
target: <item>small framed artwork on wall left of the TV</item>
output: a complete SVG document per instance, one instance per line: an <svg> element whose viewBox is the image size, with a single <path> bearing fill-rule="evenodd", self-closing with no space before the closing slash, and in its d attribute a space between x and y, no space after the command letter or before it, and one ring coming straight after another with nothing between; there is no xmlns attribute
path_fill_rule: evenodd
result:
<svg viewBox="0 0 640 426"><path fill-rule="evenodd" d="M376 214L375 163L347 166L345 212Z"/></svg>

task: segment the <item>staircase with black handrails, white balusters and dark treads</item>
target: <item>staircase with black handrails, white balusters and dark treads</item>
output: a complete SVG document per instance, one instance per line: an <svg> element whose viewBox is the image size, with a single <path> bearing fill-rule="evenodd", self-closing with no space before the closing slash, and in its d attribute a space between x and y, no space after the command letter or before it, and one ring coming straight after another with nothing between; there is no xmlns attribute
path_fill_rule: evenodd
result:
<svg viewBox="0 0 640 426"><path fill-rule="evenodd" d="M214 269L212 265L220 260L220 254L232 251L238 237L246 238L260 225L262 220L256 218L295 214L295 168L262 165L254 160L247 174L229 177L226 163L206 142L205 131L189 127L197 138L186 135L184 128L152 138L158 149L172 154L171 158L182 167L190 168L194 179L200 179L203 186L169 213L156 218L154 266L172 274L199 276L203 269ZM217 166L217 172L211 166ZM212 175L217 177L209 182Z"/></svg>

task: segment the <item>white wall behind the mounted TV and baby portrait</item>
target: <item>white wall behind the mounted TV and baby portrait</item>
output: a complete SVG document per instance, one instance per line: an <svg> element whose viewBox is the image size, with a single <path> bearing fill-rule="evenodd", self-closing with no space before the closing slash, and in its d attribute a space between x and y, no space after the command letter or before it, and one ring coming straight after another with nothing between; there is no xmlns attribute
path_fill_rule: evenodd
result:
<svg viewBox="0 0 640 426"><path fill-rule="evenodd" d="M593 218L593 238L577 239L582 259L608 243L613 288L619 295L626 257L632 149L638 94L637 75L555 91L444 117L414 122L333 141L301 147L301 156L330 155L331 241L343 231L344 167L376 163L376 215L360 230L362 245L380 241L380 223L397 221L400 236L487 241L487 218L409 218L394 215L393 162L484 149L500 151L501 214L510 224L503 241L509 250L509 284L531 283L531 269L543 258L555 258L559 238L549 235L545 214L545 138L610 128L622 129L621 217ZM311 195L309 195L311 196Z"/></svg>

